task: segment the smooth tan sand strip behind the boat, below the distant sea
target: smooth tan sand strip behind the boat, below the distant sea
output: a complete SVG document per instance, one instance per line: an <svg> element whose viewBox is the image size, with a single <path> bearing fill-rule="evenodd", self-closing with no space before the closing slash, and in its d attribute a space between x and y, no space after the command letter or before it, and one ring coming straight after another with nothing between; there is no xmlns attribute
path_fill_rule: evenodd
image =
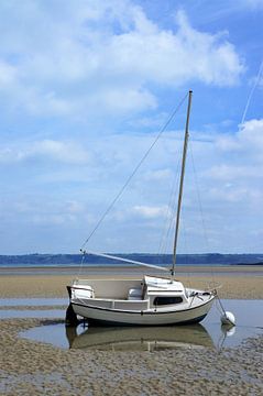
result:
<svg viewBox="0 0 263 396"><path fill-rule="evenodd" d="M186 270L190 274L186 274ZM11 273L10 273L11 271ZM13 271L13 274L12 274ZM59 271L59 273L57 273ZM76 268L72 274L65 274L68 268L0 268L0 298L1 297L67 297L66 285L70 285L76 277ZM44 273L43 273L44 272ZM165 273L161 275L164 276ZM86 270L80 275L83 278L107 277L140 278L141 272L129 268L108 271ZM263 299L263 266L228 266L228 267L178 267L178 279L186 286L209 288L220 285L218 288L221 298L249 298Z"/></svg>

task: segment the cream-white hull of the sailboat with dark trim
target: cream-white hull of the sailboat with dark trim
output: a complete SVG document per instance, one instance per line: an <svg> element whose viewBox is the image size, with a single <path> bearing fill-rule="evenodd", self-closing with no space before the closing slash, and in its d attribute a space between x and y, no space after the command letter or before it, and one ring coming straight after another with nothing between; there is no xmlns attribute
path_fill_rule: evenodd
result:
<svg viewBox="0 0 263 396"><path fill-rule="evenodd" d="M72 301L76 315L106 324L130 324L130 326L163 326L180 324L201 321L210 310L215 296L207 296L204 301L197 301L186 309L153 308L147 310L117 310L101 308Z"/></svg>

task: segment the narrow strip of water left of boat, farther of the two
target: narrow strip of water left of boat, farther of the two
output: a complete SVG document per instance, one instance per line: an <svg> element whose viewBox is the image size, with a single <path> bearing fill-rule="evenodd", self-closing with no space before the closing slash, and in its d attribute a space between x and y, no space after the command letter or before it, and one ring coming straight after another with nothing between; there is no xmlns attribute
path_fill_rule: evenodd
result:
<svg viewBox="0 0 263 396"><path fill-rule="evenodd" d="M59 306L67 305L68 298L0 298L2 307L23 307L23 306Z"/></svg>

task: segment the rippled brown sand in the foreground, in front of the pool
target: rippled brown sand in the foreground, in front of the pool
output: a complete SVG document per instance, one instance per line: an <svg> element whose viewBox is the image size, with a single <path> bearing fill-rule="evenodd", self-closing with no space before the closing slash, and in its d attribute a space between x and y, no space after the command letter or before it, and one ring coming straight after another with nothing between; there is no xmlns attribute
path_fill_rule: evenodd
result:
<svg viewBox="0 0 263 396"><path fill-rule="evenodd" d="M262 395L263 337L237 349L103 352L18 338L39 319L0 321L2 395Z"/></svg>

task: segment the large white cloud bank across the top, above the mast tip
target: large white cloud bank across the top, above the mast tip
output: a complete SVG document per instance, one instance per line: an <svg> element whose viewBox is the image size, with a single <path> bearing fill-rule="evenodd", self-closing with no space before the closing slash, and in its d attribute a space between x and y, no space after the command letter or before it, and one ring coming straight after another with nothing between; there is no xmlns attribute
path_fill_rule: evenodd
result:
<svg viewBox="0 0 263 396"><path fill-rule="evenodd" d="M197 31L183 11L172 31L131 1L10 1L0 22L0 90L35 116L144 111L156 85L231 86L244 70L226 36Z"/></svg>

